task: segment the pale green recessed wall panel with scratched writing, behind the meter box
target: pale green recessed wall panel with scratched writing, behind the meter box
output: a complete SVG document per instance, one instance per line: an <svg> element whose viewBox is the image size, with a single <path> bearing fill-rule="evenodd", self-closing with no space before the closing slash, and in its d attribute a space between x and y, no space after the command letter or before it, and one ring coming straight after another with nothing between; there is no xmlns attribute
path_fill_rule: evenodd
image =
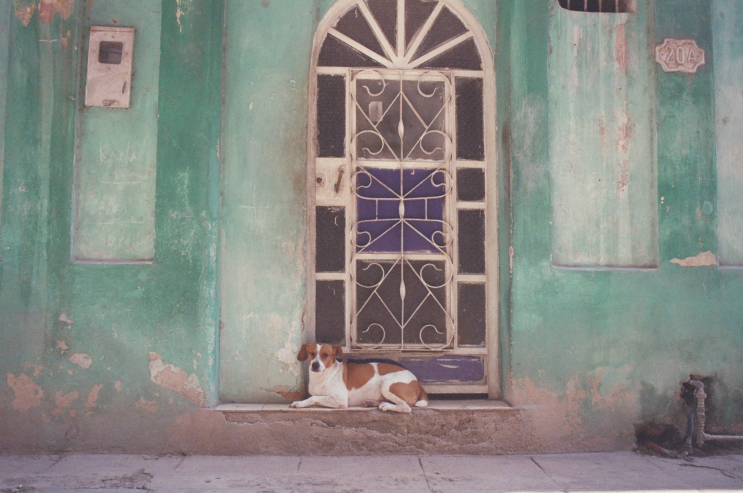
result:
<svg viewBox="0 0 743 493"><path fill-rule="evenodd" d="M155 256L158 154L159 0L93 3L80 25L80 80L87 78L91 25L134 28L129 109L78 106L72 199L72 257L151 262ZM81 84L80 97L85 97Z"/></svg>

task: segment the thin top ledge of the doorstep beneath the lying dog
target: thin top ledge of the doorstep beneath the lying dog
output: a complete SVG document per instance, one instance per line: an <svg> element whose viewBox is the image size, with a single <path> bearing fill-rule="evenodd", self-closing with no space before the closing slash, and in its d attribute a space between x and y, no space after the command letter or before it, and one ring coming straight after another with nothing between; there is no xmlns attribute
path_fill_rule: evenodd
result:
<svg viewBox="0 0 743 493"><path fill-rule="evenodd" d="M329 407L304 407L292 409L288 404L221 404L214 408L227 418L227 421L242 421L253 413L370 413L381 412L377 407L345 407L345 409L331 409ZM430 412L495 412L508 415L518 414L519 407L511 407L504 401L489 401L485 399L467 399L461 401L431 400L427 407L413 407L412 414ZM389 414L394 414L390 411Z"/></svg>

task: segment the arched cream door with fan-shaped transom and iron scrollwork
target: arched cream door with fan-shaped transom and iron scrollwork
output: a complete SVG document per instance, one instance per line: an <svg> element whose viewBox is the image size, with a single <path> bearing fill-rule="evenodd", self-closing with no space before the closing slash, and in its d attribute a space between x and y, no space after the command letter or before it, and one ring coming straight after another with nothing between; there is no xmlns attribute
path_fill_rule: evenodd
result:
<svg viewBox="0 0 743 493"><path fill-rule="evenodd" d="M447 1L345 5L314 66L315 338L350 351L447 352L469 376L452 364L432 381L477 391L494 296L484 111L493 74Z"/></svg>

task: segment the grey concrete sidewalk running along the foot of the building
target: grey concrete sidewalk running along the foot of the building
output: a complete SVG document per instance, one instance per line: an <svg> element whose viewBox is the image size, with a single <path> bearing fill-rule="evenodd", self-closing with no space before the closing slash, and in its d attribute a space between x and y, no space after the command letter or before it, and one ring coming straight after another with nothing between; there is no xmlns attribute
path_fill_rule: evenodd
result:
<svg viewBox="0 0 743 493"><path fill-rule="evenodd" d="M311 453L312 451L304 451ZM0 455L6 492L743 491L743 455L147 457Z"/></svg>

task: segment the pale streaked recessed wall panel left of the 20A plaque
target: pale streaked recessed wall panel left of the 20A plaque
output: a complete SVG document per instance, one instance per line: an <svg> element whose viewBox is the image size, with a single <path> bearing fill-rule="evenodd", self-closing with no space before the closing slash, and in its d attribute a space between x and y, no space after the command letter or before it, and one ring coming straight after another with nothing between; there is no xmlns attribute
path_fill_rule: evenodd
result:
<svg viewBox="0 0 743 493"><path fill-rule="evenodd" d="M647 0L635 13L551 4L552 262L657 267L655 94ZM651 10L652 12L652 10Z"/></svg>

